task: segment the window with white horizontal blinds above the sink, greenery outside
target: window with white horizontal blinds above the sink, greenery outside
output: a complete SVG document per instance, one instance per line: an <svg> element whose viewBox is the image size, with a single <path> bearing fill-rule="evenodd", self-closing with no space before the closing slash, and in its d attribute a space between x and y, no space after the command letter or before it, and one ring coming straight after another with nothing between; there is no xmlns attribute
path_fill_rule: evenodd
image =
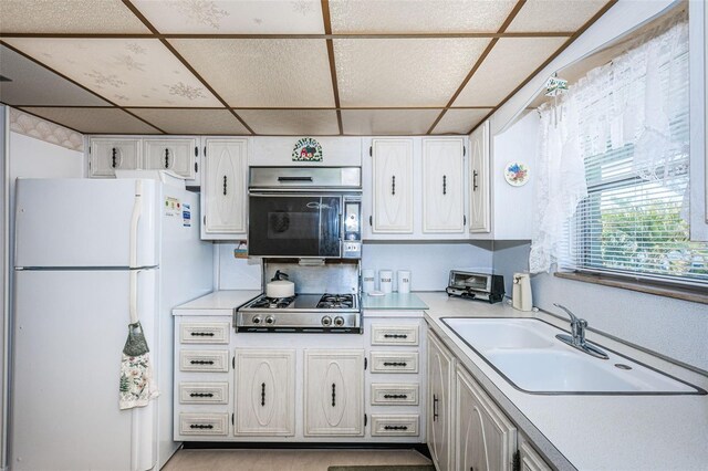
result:
<svg viewBox="0 0 708 471"><path fill-rule="evenodd" d="M589 74L576 94L587 197L566 224L559 265L706 285L708 243L689 241L687 222L687 24L650 42Z"/></svg>

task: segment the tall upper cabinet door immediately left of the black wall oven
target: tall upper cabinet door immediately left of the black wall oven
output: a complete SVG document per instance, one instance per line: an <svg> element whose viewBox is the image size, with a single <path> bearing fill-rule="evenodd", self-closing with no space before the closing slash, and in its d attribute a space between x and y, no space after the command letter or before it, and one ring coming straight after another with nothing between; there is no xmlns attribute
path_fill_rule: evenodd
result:
<svg viewBox="0 0 708 471"><path fill-rule="evenodd" d="M205 238L246 234L246 139L207 139L202 182Z"/></svg>

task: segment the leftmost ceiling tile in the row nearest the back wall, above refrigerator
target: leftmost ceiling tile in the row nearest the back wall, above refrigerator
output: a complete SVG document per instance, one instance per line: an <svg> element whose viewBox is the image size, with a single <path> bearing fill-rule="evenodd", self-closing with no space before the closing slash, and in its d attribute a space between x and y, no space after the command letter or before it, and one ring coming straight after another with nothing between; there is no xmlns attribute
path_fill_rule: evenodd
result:
<svg viewBox="0 0 708 471"><path fill-rule="evenodd" d="M118 108L22 107L20 109L84 134L159 134L159 130L153 126Z"/></svg>

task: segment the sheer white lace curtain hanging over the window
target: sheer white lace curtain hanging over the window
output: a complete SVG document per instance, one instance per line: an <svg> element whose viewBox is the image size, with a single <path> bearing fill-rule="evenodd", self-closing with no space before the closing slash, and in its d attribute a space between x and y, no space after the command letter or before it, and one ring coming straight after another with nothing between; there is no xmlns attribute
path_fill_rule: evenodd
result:
<svg viewBox="0 0 708 471"><path fill-rule="evenodd" d="M560 258L564 227L587 196L586 156L633 144L636 175L660 179L657 172L667 171L667 158L676 155L667 114L669 88L680 72L673 59L687 48L688 22L681 11L539 108L531 273L550 271Z"/></svg>

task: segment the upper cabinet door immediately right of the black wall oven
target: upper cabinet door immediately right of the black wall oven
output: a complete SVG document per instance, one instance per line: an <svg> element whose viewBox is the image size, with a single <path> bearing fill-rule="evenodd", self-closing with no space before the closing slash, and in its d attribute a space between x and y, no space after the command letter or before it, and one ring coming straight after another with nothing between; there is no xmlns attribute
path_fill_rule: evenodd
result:
<svg viewBox="0 0 708 471"><path fill-rule="evenodd" d="M413 232L413 139L374 139L373 232Z"/></svg>

